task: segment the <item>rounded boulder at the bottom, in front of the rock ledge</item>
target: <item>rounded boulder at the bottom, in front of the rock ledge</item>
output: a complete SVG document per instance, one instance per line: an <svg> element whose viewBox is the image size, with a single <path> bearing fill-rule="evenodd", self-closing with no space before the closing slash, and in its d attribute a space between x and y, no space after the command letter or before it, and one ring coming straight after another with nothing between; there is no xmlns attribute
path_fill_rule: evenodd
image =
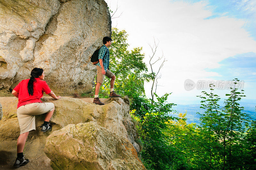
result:
<svg viewBox="0 0 256 170"><path fill-rule="evenodd" d="M53 169L145 169L132 144L95 122L54 131L44 148Z"/></svg>

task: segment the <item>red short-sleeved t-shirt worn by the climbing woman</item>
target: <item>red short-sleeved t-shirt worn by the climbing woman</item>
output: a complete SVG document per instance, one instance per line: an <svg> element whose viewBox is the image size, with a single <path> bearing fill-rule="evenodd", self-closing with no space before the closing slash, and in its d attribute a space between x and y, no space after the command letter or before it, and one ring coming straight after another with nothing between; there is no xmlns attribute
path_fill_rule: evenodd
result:
<svg viewBox="0 0 256 170"><path fill-rule="evenodd" d="M49 94L52 91L45 81L36 78L36 82L34 82L34 93L31 96L28 94L28 80L29 79L22 80L13 89L19 93L19 103L17 108L30 103L42 103L40 99L43 97L44 92Z"/></svg>

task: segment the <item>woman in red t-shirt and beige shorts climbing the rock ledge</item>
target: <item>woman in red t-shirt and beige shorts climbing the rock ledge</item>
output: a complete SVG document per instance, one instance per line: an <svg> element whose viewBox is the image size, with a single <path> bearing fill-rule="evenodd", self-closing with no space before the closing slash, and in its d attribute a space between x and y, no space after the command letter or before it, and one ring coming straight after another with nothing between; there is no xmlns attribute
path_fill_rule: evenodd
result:
<svg viewBox="0 0 256 170"><path fill-rule="evenodd" d="M17 141L17 159L14 167L24 166L29 160L24 159L23 149L30 130L36 129L35 115L45 114L44 123L41 131L51 130L49 123L53 111L53 103L43 103L40 99L44 92L54 99L60 99L56 96L44 80L44 70L34 68L31 71L30 79L22 80L12 91L12 94L19 99L17 106L17 117L20 125L20 136Z"/></svg>

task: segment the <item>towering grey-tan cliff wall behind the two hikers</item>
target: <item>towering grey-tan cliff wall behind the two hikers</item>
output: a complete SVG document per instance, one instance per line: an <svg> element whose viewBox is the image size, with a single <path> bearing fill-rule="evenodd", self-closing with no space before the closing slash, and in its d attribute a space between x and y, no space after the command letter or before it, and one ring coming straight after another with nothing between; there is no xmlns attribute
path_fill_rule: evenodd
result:
<svg viewBox="0 0 256 170"><path fill-rule="evenodd" d="M45 70L58 94L91 91L96 67L90 56L110 35L104 0L0 0L1 93L34 67Z"/></svg>

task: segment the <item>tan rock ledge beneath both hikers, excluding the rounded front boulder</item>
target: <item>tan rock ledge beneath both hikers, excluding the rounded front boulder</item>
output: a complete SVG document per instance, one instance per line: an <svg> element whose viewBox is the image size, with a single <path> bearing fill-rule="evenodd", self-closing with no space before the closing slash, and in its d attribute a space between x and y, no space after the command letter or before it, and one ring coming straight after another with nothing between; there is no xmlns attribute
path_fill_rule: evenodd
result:
<svg viewBox="0 0 256 170"><path fill-rule="evenodd" d="M76 99L63 97L59 100L54 100L50 97L43 97L41 100L44 102L52 102L55 105L55 111L50 121L53 125L52 132L64 127L67 128L70 126L69 124L87 124L90 122L94 123L93 126L95 125L99 130L108 129L109 134L116 134L115 137L119 137L118 140L123 141L124 139L128 141L130 144L129 147L132 147L133 151L137 153L140 151L139 145L135 142L137 136L129 114L128 98L101 99L101 101L106 103L103 106L93 104L93 98ZM0 157L4 157L4 159L0 160L0 165L11 166L16 157L17 138L20 134L16 115L18 99L15 97L0 97L0 103L3 107L3 117L0 121ZM36 127L40 126L43 122L44 115L36 116ZM31 159L31 163L26 167L36 167L39 170L51 169L50 159L43 151L46 137L48 137L49 134L51 134L51 132L43 133L39 128L29 132L24 153L26 153L27 158ZM70 147L71 146L72 145L70 145ZM120 154L122 155L123 153ZM58 158L54 158L54 160L57 159ZM110 161L110 159L106 161ZM111 161L115 162L114 160ZM127 161L129 163L129 160ZM107 165L107 163L104 163L104 165L105 164ZM37 165L44 166L39 167ZM119 166L116 167L118 169Z"/></svg>

